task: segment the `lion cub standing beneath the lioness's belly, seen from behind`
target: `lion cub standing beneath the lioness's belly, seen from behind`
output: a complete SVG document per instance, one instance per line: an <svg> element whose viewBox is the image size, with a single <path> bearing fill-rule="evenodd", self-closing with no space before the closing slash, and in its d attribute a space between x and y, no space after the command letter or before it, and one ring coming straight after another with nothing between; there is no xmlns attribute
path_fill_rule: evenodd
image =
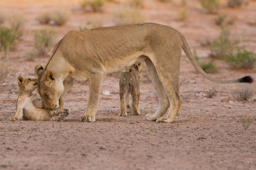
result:
<svg viewBox="0 0 256 170"><path fill-rule="evenodd" d="M120 114L119 116L127 116L127 112L139 115L139 78L141 77L141 65L134 64L130 69L126 69L119 79L119 95L120 95ZM130 106L130 95L132 104Z"/></svg>

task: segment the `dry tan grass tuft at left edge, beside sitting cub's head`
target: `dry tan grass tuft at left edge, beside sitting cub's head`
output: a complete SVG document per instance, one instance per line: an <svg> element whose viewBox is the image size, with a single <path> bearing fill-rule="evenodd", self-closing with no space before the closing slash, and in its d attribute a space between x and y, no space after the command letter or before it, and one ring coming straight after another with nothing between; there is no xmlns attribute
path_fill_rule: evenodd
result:
<svg viewBox="0 0 256 170"><path fill-rule="evenodd" d="M15 77L15 71L6 64L5 59L0 59L0 84L9 82Z"/></svg>

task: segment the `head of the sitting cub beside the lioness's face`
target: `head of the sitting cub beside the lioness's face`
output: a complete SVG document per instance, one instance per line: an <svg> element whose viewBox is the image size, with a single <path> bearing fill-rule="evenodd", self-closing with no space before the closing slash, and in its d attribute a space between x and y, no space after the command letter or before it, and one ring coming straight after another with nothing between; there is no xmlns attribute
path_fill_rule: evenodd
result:
<svg viewBox="0 0 256 170"><path fill-rule="evenodd" d="M19 84L19 91L22 92L32 92L37 88L37 79L23 78L23 76L18 76L17 78Z"/></svg>

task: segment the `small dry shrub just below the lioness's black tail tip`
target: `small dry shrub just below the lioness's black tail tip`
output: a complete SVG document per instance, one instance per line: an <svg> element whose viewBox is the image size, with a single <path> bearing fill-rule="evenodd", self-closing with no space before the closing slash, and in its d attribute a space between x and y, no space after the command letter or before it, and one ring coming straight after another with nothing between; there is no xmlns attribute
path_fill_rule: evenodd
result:
<svg viewBox="0 0 256 170"><path fill-rule="evenodd" d="M233 95L238 100L246 101L255 95L255 88L250 84L243 84L234 90Z"/></svg>

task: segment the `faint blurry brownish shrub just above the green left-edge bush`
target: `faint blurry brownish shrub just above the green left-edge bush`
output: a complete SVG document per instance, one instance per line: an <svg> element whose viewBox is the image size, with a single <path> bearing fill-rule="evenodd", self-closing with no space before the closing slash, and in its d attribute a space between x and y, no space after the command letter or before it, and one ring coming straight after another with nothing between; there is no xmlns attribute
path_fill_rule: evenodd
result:
<svg viewBox="0 0 256 170"><path fill-rule="evenodd" d="M22 14L13 14L9 18L10 27L13 29L22 29L26 23L26 19Z"/></svg>

